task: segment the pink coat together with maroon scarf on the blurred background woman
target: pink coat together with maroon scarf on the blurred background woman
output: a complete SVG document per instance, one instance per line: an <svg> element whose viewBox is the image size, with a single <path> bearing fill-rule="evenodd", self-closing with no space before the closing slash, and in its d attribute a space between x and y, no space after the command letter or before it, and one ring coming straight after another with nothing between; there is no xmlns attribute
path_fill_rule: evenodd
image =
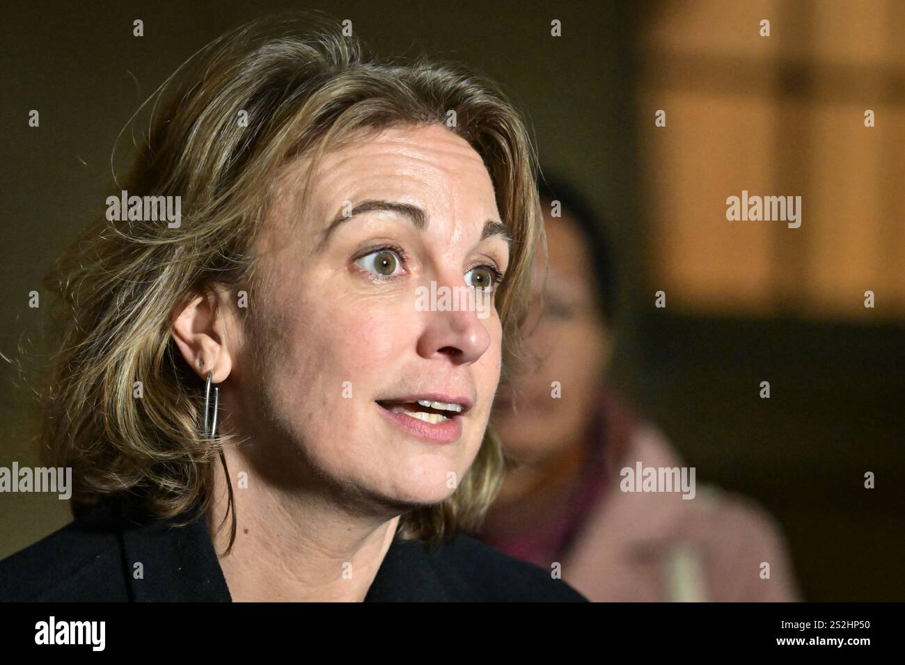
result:
<svg viewBox="0 0 905 665"><path fill-rule="evenodd" d="M781 531L763 508L697 482L693 499L622 491L626 467L684 462L606 388L596 418L582 479L542 506L500 507L509 526L491 519L477 536L541 567L561 565L592 601L799 600Z"/></svg>

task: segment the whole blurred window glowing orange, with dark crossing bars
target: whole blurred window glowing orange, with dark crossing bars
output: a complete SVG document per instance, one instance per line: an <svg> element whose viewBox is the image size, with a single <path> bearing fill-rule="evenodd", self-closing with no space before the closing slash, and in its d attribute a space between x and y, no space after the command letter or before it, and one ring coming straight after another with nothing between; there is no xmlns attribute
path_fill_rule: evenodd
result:
<svg viewBox="0 0 905 665"><path fill-rule="evenodd" d="M643 40L642 190L672 306L905 318L903 20L895 0L663 5ZM742 190L801 195L801 228L729 222Z"/></svg>

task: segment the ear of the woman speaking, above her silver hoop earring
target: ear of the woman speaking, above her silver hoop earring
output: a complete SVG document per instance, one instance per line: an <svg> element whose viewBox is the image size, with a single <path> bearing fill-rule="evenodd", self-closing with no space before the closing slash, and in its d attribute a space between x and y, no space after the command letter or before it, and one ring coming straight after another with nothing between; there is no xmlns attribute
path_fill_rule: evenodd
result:
<svg viewBox="0 0 905 665"><path fill-rule="evenodd" d="M179 308L182 309L179 309ZM219 384L233 369L233 349L224 325L224 303L216 293L195 294L173 311L173 339L195 374L203 379L213 372Z"/></svg>

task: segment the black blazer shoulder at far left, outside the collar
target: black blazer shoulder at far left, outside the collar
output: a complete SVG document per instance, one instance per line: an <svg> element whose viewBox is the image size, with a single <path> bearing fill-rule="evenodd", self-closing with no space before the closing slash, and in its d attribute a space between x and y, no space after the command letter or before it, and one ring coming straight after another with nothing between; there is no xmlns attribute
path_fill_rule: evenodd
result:
<svg viewBox="0 0 905 665"><path fill-rule="evenodd" d="M0 561L0 601L109 601L128 598L115 516L109 503Z"/></svg>

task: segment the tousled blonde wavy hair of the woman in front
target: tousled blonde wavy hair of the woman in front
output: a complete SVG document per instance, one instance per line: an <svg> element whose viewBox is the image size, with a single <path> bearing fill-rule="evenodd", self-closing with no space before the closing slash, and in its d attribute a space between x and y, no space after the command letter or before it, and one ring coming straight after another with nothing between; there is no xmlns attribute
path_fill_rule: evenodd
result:
<svg viewBox="0 0 905 665"><path fill-rule="evenodd" d="M230 437L202 432L203 384L171 339L172 312L214 288L260 286L252 246L278 194L281 168L312 156L310 174L331 147L361 131L443 125L481 155L514 238L497 295L502 380L522 366L530 262L543 235L537 159L519 113L496 84L424 56L377 60L344 36L337 20L306 12L244 24L208 44L130 123L151 100L148 137L115 194L178 195L181 225L104 216L47 278L62 306L62 342L43 391L42 457L72 468L73 513L124 492L139 495L157 518L210 508L218 457L229 477L223 448ZM247 123L238 121L240 111ZM133 396L137 381L141 399ZM460 527L478 527L504 463L488 430L459 487L442 503L403 516L397 536L433 544ZM229 547L235 510L231 493Z"/></svg>

